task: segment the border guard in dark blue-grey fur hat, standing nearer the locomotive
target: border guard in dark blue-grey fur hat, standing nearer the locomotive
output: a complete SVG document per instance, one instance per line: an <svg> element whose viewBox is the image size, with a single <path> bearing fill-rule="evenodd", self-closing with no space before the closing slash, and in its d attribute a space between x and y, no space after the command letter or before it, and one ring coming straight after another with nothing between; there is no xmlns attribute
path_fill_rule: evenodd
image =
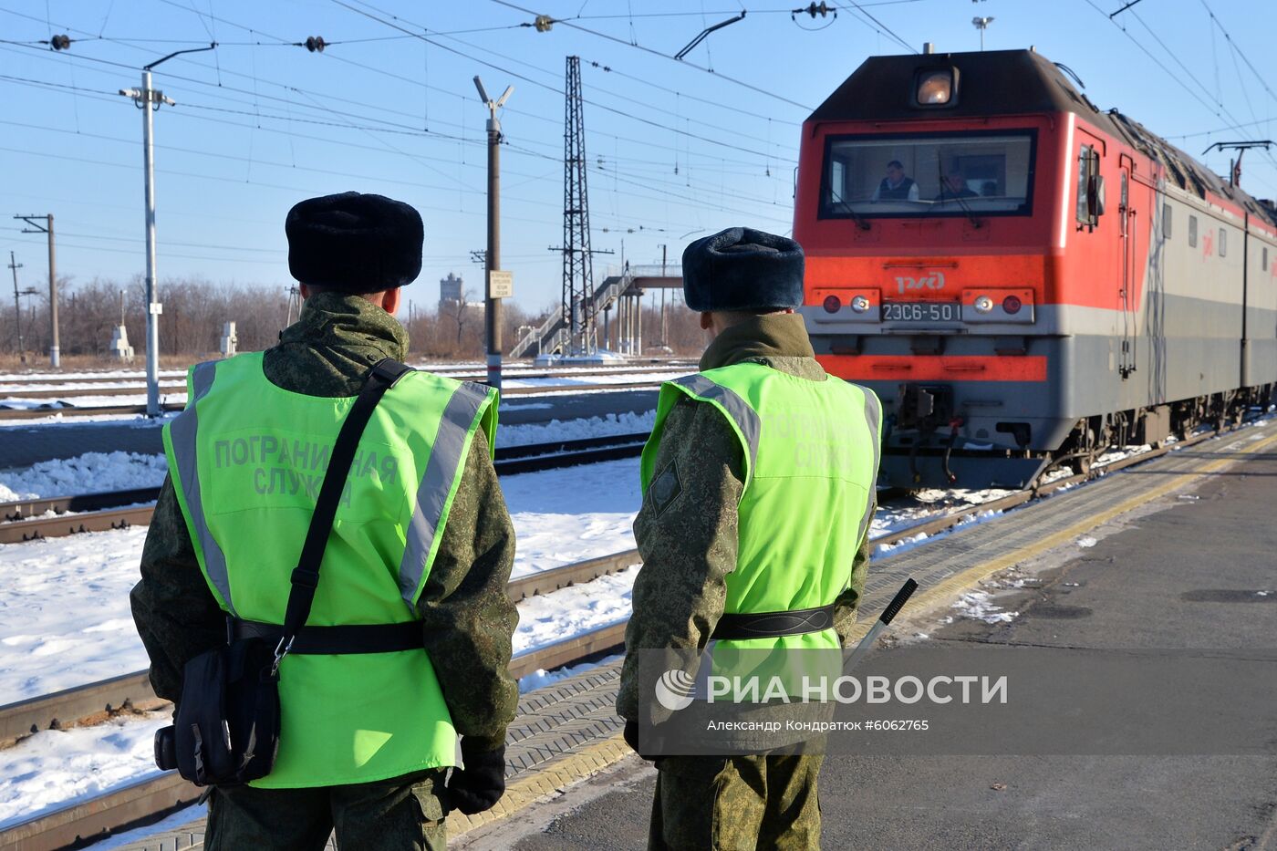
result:
<svg viewBox="0 0 1277 851"><path fill-rule="evenodd" d="M829 377L803 319L803 253L733 227L683 252L713 342L661 387L642 456L642 569L617 709L638 751L644 650L836 649L865 586L881 411ZM820 847L821 754L661 756L649 848Z"/></svg>

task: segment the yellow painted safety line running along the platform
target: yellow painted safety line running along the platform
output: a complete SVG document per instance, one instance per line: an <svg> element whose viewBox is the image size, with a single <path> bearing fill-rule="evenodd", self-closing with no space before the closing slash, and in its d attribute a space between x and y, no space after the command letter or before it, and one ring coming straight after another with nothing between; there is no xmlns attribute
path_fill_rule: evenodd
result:
<svg viewBox="0 0 1277 851"><path fill-rule="evenodd" d="M1162 497L1176 488L1184 487L1194 479L1209 475L1211 473L1236 464L1244 456L1253 455L1263 448L1267 448L1268 446L1272 446L1273 443L1277 443L1277 434L1258 441L1253 446L1237 450L1232 457L1211 461L1209 464L1205 464L1190 473L1181 473L1168 482L1163 482L1162 484L1125 500L1124 502L1120 502L1110 509L1088 515L1066 529L1061 529L1060 532L1041 538L1032 544L1014 549L982 565L968 567L967 570L954 574L944 581L931 585L922 593L914 595L909 608L913 611L933 608L940 603L956 597L960 592L976 585L981 580L992 576L1000 570L1052 549L1083 532L1088 532L1107 523L1108 520L1112 520L1117 515L1125 514L1145 502ZM849 636L850 643L858 641L863 638L865 634L870 631L872 625L873 621L857 624ZM626 745L624 739L619 733L612 736L610 739L594 742L580 751L570 754L564 759L550 763L545 768L536 769L527 777L515 781L506 788L506 795L501 799L497 806L487 813L470 816L462 815L461 813L450 814L448 836L461 836L480 825L490 824L506 816L513 815L531 806L547 795L561 791L571 783L601 772L609 765L619 762L622 758L630 755L630 746Z"/></svg>

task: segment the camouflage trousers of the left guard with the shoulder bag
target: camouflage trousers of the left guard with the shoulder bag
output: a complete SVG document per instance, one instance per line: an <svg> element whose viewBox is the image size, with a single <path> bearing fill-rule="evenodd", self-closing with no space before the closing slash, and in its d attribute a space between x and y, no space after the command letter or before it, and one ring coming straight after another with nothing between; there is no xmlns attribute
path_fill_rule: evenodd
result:
<svg viewBox="0 0 1277 851"><path fill-rule="evenodd" d="M315 788L216 787L206 851L443 851L444 769L375 783Z"/></svg>

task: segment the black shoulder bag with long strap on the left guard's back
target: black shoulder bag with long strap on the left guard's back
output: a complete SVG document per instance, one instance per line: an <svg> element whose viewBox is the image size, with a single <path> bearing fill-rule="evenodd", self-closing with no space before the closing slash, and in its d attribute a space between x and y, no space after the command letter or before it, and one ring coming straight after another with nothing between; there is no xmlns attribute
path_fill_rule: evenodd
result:
<svg viewBox="0 0 1277 851"><path fill-rule="evenodd" d="M409 371L391 359L377 363L341 424L290 579L278 641L238 638L229 629L226 644L186 663L174 726L156 732L161 769L176 768L197 786L212 786L246 783L275 768L281 735L280 662L310 616L323 551L364 425L386 391Z"/></svg>

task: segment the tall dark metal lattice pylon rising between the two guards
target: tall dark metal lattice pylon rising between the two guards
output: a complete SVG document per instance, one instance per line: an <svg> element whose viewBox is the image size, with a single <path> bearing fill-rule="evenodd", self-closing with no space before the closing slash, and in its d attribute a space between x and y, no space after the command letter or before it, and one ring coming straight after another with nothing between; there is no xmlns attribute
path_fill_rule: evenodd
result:
<svg viewBox="0 0 1277 851"><path fill-rule="evenodd" d="M586 192L585 116L581 112L581 57L567 57L563 121L563 319L570 354L596 349L590 259L590 197Z"/></svg>

